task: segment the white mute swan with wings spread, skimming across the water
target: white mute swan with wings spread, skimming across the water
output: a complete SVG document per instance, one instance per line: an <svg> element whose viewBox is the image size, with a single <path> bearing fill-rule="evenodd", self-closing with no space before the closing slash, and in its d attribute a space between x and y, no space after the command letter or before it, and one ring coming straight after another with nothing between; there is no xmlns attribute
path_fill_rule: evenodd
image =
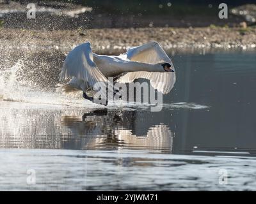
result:
<svg viewBox="0 0 256 204"><path fill-rule="evenodd" d="M60 73L62 80L71 77L58 90L64 93L81 90L90 101L93 97L87 96L86 91L97 82L108 84L108 77L114 77L118 83L146 78L163 94L171 91L176 79L171 59L156 41L128 48L119 56L94 54L89 42L78 45L68 53Z"/></svg>

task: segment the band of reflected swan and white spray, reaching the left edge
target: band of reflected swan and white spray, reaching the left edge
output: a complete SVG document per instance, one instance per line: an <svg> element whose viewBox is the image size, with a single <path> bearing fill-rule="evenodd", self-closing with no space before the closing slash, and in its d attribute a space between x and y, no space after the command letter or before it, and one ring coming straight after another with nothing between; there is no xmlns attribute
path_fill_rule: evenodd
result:
<svg viewBox="0 0 256 204"><path fill-rule="evenodd" d="M163 121L163 120L162 120ZM0 147L172 152L174 134L145 110L0 108Z"/></svg>

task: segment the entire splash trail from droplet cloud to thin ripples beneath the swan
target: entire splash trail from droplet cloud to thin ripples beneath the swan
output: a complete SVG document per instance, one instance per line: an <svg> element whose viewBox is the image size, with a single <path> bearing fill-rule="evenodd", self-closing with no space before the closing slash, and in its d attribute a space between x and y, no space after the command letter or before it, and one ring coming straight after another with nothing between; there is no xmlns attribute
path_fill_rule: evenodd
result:
<svg viewBox="0 0 256 204"><path fill-rule="evenodd" d="M147 103L127 101L109 101L109 105L102 106L86 101L82 92L74 95L63 95L56 92L58 69L52 69L52 64L36 59L19 59L11 68L5 66L0 69L0 100L19 102L20 106L29 103L29 107L63 109L72 108L108 108L109 110L150 110ZM22 103L21 103L22 102ZM155 106L156 107L156 106ZM161 108L203 109L208 106L196 103L171 103L159 106ZM161 109L160 109L161 110Z"/></svg>

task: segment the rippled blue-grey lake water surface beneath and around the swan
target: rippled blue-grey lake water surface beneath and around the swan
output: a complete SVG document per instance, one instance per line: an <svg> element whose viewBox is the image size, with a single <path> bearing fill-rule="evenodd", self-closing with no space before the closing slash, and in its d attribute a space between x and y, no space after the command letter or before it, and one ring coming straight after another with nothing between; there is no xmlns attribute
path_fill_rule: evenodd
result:
<svg viewBox="0 0 256 204"><path fill-rule="evenodd" d="M23 87L17 64L2 71L0 190L256 190L255 52L171 56L161 112Z"/></svg>

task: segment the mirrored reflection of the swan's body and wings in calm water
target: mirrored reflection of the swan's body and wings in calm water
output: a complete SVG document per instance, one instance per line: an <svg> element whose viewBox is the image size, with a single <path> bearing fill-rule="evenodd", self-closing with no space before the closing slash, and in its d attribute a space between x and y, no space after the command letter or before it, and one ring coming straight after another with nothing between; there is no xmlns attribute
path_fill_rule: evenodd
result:
<svg viewBox="0 0 256 204"><path fill-rule="evenodd" d="M172 152L173 133L165 124L141 122L143 112L94 110L79 119L63 116L61 122L74 135L86 136L82 149L143 149Z"/></svg>

